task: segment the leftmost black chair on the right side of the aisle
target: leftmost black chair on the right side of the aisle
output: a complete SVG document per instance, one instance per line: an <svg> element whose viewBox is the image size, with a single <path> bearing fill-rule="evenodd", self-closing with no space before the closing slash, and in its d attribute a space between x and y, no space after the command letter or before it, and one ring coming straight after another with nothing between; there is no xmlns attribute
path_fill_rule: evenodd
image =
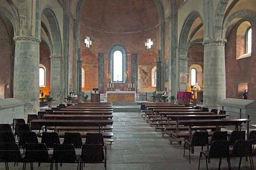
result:
<svg viewBox="0 0 256 170"><path fill-rule="evenodd" d="M192 149L192 153L194 153L194 147L202 147L202 150L203 150L204 146L207 147L207 151L208 151L208 147L209 147L208 132L194 132L190 141L185 140L183 157L185 157L185 149L186 149L186 147L188 147L189 148L189 163L191 163L190 148Z"/></svg>

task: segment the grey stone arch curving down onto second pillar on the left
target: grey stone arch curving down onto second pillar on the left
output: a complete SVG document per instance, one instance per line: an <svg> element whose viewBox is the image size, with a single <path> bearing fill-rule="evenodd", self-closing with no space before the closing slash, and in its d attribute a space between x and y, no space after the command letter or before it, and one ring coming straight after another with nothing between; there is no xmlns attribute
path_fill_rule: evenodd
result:
<svg viewBox="0 0 256 170"><path fill-rule="evenodd" d="M59 31L59 25L58 25L56 16L53 10L50 9L50 7L45 7L45 9L43 9L43 14L45 14L50 25L51 42L53 43L53 48L52 48L53 53L51 55L61 55L62 54L61 34Z"/></svg>

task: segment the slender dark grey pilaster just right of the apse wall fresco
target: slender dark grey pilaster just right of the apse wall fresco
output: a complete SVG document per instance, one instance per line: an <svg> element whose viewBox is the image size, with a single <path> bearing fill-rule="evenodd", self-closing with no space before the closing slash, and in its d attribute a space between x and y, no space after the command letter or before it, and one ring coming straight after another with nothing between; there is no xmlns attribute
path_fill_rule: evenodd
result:
<svg viewBox="0 0 256 170"><path fill-rule="evenodd" d="M157 91L164 90L163 84L163 67L162 67L162 54L161 50L158 50L158 60L157 60Z"/></svg>

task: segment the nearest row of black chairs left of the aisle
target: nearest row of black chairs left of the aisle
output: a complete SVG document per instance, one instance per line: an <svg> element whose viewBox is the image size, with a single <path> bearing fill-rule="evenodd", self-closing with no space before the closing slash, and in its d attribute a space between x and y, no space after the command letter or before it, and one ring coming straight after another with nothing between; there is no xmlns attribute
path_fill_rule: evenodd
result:
<svg viewBox="0 0 256 170"><path fill-rule="evenodd" d="M11 162L23 163L22 169L26 169L26 164L30 163L50 163L50 169L58 169L58 163L77 163L77 169L83 169L85 163L104 163L106 169L106 155L102 144L83 144L81 155L76 155L73 144L54 144L53 155L49 155L45 143L26 143L25 155L23 155L16 143L0 143L0 160L5 163L9 170Z"/></svg>

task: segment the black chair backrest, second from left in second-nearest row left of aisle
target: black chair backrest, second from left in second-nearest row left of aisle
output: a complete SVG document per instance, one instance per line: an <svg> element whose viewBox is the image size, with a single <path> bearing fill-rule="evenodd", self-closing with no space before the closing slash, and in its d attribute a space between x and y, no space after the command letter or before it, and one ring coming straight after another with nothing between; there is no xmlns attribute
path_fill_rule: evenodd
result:
<svg viewBox="0 0 256 170"><path fill-rule="evenodd" d="M35 132L21 132L19 134L19 147L25 148L26 143L38 143Z"/></svg>

